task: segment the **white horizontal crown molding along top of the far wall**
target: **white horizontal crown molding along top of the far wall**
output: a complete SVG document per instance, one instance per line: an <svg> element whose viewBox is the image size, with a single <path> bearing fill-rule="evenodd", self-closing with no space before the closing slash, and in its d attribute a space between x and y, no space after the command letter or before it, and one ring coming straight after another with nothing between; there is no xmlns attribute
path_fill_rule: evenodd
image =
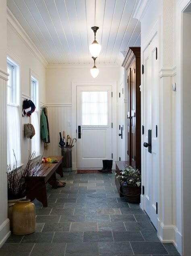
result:
<svg viewBox="0 0 191 256"><path fill-rule="evenodd" d="M93 64L48 64L48 66L46 66L47 69L50 68L92 68ZM96 63L96 67L97 68L119 68L120 65L117 64L99 64Z"/></svg>

